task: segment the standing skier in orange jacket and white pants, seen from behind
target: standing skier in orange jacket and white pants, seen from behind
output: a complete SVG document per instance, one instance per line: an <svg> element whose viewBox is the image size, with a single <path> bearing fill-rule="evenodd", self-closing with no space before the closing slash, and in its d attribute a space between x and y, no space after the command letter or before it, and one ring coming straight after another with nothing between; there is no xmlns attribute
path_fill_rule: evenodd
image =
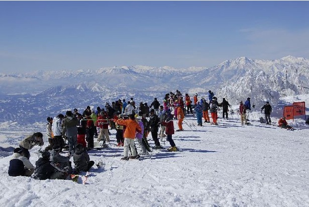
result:
<svg viewBox="0 0 309 207"><path fill-rule="evenodd" d="M117 120L116 123L119 125L124 125L126 126L125 130L125 143L124 143L124 157L122 159L128 160L129 159L129 146L131 149L135 149L135 144L134 144L134 139L135 139L135 134L137 132L142 132L141 127L139 124L135 121L135 117L133 114L129 116L130 119L128 120L123 120L122 118ZM132 156L130 157L131 159L135 159L137 154L135 150L131 151Z"/></svg>

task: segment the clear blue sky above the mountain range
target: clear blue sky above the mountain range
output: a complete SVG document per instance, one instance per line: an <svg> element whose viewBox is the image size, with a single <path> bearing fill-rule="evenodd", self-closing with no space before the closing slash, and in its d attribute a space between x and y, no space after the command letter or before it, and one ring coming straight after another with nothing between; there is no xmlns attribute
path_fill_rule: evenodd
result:
<svg viewBox="0 0 309 207"><path fill-rule="evenodd" d="M309 58L307 1L0 1L0 72Z"/></svg>

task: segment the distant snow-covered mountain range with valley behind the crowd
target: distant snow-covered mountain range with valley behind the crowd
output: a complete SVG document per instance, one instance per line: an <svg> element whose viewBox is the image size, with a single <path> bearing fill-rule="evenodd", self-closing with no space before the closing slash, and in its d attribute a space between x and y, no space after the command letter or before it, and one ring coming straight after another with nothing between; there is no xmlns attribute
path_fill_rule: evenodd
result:
<svg viewBox="0 0 309 207"><path fill-rule="evenodd" d="M163 99L179 89L183 94L207 97L212 90L231 104L239 100L261 106L266 100L309 92L309 60L293 56L278 60L246 57L226 60L210 68L115 66L98 70L0 73L0 122L45 122L46 117L86 106L134 97L136 102ZM281 103L282 104L282 103Z"/></svg>

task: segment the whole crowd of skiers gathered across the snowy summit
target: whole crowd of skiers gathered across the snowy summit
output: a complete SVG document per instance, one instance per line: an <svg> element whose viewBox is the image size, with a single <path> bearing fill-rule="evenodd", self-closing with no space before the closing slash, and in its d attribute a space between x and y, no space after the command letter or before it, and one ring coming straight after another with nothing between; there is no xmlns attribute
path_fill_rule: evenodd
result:
<svg viewBox="0 0 309 207"><path fill-rule="evenodd" d="M94 162L90 161L87 151L94 148L95 138L97 142L103 143L101 146L110 142L112 129L116 130L117 146L123 146L123 160L137 159L152 149L162 149L160 142L164 138L170 144L168 151L174 152L178 148L172 135L175 131L183 131L182 123L185 117L196 116L198 126L203 126L203 123L218 125L219 107L222 108L222 118L229 119L231 105L225 98L219 103L213 91L209 90L208 101L204 97L199 98L197 93L191 101L188 93L183 96L176 90L175 93L166 93L161 104L154 98L149 106L147 102L140 102L137 106L131 97L129 101L119 99L113 101L111 105L106 102L105 108L97 107L96 110L91 110L90 106L87 106L82 114L78 109L74 109L73 112L67 111L65 115L48 117L46 134L49 145L41 152L42 157L35 163L36 166L34 167L29 161L29 150L36 145L44 145L43 134L40 132L24 139L14 150L9 175L32 176L36 179L65 179L69 174L88 171ZM268 101L261 111L263 109L267 124L270 124L271 106ZM251 103L248 97L245 104L240 101L238 112L242 125L248 123L250 111ZM174 130L174 120L177 120L177 130ZM280 126L288 127L283 122L285 120L281 121L283 124ZM149 134L154 141L153 147L147 140ZM139 152L135 140L139 144ZM68 150L68 156L60 154L64 150ZM73 168L70 157L73 157Z"/></svg>

